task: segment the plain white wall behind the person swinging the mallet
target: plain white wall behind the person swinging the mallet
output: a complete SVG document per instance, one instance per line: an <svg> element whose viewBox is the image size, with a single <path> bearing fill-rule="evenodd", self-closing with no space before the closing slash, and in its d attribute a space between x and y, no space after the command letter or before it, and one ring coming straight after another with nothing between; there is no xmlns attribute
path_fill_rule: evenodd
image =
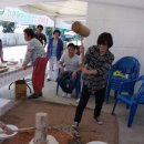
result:
<svg viewBox="0 0 144 144"><path fill-rule="evenodd" d="M85 39L86 48L96 43L100 33L111 32L115 61L133 55L140 60L141 74L144 74L144 10L89 3L86 24L91 29L91 35Z"/></svg>

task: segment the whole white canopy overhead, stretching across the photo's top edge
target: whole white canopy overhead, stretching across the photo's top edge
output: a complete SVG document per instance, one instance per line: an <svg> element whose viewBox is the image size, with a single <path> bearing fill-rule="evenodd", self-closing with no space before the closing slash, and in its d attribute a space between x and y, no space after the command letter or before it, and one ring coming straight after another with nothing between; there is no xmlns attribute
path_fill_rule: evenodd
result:
<svg viewBox="0 0 144 144"><path fill-rule="evenodd" d="M19 7L70 24L75 20L85 22L89 2L144 9L143 0L1 0L0 8Z"/></svg>

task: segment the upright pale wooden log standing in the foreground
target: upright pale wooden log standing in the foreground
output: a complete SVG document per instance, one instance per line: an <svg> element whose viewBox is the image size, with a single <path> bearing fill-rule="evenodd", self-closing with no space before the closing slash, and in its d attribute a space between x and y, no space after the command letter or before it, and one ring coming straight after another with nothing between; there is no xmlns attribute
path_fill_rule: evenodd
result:
<svg viewBox="0 0 144 144"><path fill-rule="evenodd" d="M33 138L34 144L49 144L47 141L48 134L48 114L37 113L35 114L35 135Z"/></svg>

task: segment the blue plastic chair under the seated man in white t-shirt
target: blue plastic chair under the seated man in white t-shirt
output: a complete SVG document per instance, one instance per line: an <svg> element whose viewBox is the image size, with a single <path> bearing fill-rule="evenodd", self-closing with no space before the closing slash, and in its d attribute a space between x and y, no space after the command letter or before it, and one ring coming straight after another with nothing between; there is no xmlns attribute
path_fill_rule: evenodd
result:
<svg viewBox="0 0 144 144"><path fill-rule="evenodd" d="M59 70L59 73L60 73L60 70ZM75 99L79 99L80 93L81 93L81 75L82 75L82 73L79 72L76 84L75 84ZM58 92L59 92L59 86L60 86L59 83L56 83L56 95L58 95Z"/></svg>

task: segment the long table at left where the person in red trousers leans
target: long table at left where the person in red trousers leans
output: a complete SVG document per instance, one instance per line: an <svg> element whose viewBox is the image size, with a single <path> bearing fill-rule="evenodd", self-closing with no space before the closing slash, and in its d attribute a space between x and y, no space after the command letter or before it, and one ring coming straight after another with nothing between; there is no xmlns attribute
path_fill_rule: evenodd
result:
<svg viewBox="0 0 144 144"><path fill-rule="evenodd" d="M9 70L7 72L0 73L0 88L32 74L31 65L29 65L27 70L23 70L19 65L11 65L8 68Z"/></svg>

